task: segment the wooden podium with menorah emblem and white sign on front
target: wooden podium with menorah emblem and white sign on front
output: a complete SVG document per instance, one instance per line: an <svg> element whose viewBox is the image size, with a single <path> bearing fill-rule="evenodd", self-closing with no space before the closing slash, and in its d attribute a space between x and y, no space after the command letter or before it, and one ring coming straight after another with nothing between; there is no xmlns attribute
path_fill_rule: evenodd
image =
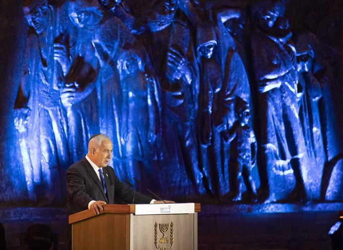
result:
<svg viewBox="0 0 343 250"><path fill-rule="evenodd" d="M69 216L73 250L197 250L199 203L104 205Z"/></svg>

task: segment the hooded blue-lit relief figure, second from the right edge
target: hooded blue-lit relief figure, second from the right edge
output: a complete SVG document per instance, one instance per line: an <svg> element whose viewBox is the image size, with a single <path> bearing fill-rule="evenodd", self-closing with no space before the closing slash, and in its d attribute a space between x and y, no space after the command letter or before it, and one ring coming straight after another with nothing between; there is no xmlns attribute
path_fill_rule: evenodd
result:
<svg viewBox="0 0 343 250"><path fill-rule="evenodd" d="M313 92L313 86L316 86L315 90L320 89L320 98L313 99L311 106L313 116L311 123L315 127L311 133L313 135L311 141L314 141L313 150L316 157L320 158L321 155L324 155L321 160L318 159L319 164L317 166L323 164L325 166L323 168L317 167L315 172L312 171L317 176L322 175L321 184L318 183L315 187L320 186L321 199L337 199L341 197L341 192L339 188L333 187L341 182L339 169L342 163L337 162L336 159L342 151L342 138L337 136L339 134L340 116L336 105L339 102L335 98L337 91L334 90L335 79L332 76L332 67L325 59L325 50L323 50L318 37L312 32L304 31L298 36L297 50L299 50L299 59L308 59L308 62L302 62L303 68L305 66L308 68L308 71L302 70L302 79L309 83L309 86L312 86L310 93ZM322 143L317 143L317 140L321 140ZM324 152L322 152L322 147L324 147ZM316 195L318 194L316 193L314 197Z"/></svg>

